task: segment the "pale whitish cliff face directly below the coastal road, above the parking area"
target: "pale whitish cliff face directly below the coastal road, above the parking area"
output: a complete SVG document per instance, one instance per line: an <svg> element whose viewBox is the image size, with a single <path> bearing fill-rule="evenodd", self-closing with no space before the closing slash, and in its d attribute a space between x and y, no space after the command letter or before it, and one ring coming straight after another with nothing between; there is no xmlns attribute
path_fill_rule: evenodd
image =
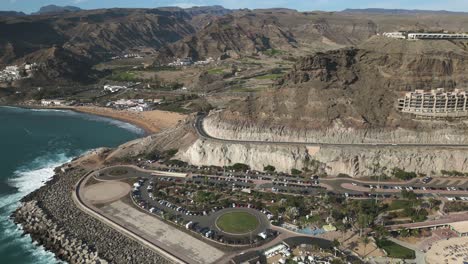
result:
<svg viewBox="0 0 468 264"><path fill-rule="evenodd" d="M194 165L244 163L256 170L273 165L278 171L308 168L316 173L352 177L391 175L393 168L439 176L440 170L468 172L468 148L302 147L220 143L197 140L178 158Z"/></svg>

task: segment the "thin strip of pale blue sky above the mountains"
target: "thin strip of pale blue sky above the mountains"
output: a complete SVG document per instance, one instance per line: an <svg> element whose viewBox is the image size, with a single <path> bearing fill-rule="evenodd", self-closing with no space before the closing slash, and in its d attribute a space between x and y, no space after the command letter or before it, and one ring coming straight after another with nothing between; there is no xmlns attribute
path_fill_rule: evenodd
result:
<svg viewBox="0 0 468 264"><path fill-rule="evenodd" d="M84 9L106 7L158 7L222 5L226 8L288 7L300 11L345 8L402 8L468 11L468 0L0 0L0 10L35 12L44 5L74 5Z"/></svg>

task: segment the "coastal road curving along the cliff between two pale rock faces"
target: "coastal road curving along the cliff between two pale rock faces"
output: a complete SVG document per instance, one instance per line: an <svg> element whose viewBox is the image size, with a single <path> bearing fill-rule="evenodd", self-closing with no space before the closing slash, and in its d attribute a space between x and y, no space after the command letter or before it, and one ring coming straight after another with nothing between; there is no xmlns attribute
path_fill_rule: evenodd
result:
<svg viewBox="0 0 468 264"><path fill-rule="evenodd" d="M324 142L300 142L300 141L262 141L262 140L237 140L213 137L203 127L204 114L199 114L195 120L194 128L202 139L209 139L224 143L239 144L263 144L263 145L304 145L324 147L429 147L429 148L468 148L468 144L418 144L418 143L324 143Z"/></svg>

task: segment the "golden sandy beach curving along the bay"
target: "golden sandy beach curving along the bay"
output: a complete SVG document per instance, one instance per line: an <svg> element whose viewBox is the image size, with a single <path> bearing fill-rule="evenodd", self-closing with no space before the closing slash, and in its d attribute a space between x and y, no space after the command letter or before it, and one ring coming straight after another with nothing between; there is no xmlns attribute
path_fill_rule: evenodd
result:
<svg viewBox="0 0 468 264"><path fill-rule="evenodd" d="M70 109L73 111L110 117L134 124L144 129L148 134L154 134L162 129L176 126L179 121L185 119L186 115L167 112L160 110L152 110L145 112L134 112L128 110L115 110L112 108L98 106L60 106L60 109Z"/></svg>

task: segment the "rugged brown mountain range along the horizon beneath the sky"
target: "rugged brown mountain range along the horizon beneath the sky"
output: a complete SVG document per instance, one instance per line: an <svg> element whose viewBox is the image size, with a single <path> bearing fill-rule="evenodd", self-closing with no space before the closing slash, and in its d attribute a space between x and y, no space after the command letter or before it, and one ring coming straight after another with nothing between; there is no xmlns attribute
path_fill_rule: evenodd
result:
<svg viewBox="0 0 468 264"><path fill-rule="evenodd" d="M181 57L239 58L267 50L300 57L359 45L385 31L460 32L468 28L466 16L459 13L408 16L381 9L298 12L221 6L99 10L49 6L41 10L41 15L9 12L0 16L0 67L37 62L43 66L40 76L44 80L74 82L92 79L93 65L136 49L153 50L156 63Z"/></svg>

